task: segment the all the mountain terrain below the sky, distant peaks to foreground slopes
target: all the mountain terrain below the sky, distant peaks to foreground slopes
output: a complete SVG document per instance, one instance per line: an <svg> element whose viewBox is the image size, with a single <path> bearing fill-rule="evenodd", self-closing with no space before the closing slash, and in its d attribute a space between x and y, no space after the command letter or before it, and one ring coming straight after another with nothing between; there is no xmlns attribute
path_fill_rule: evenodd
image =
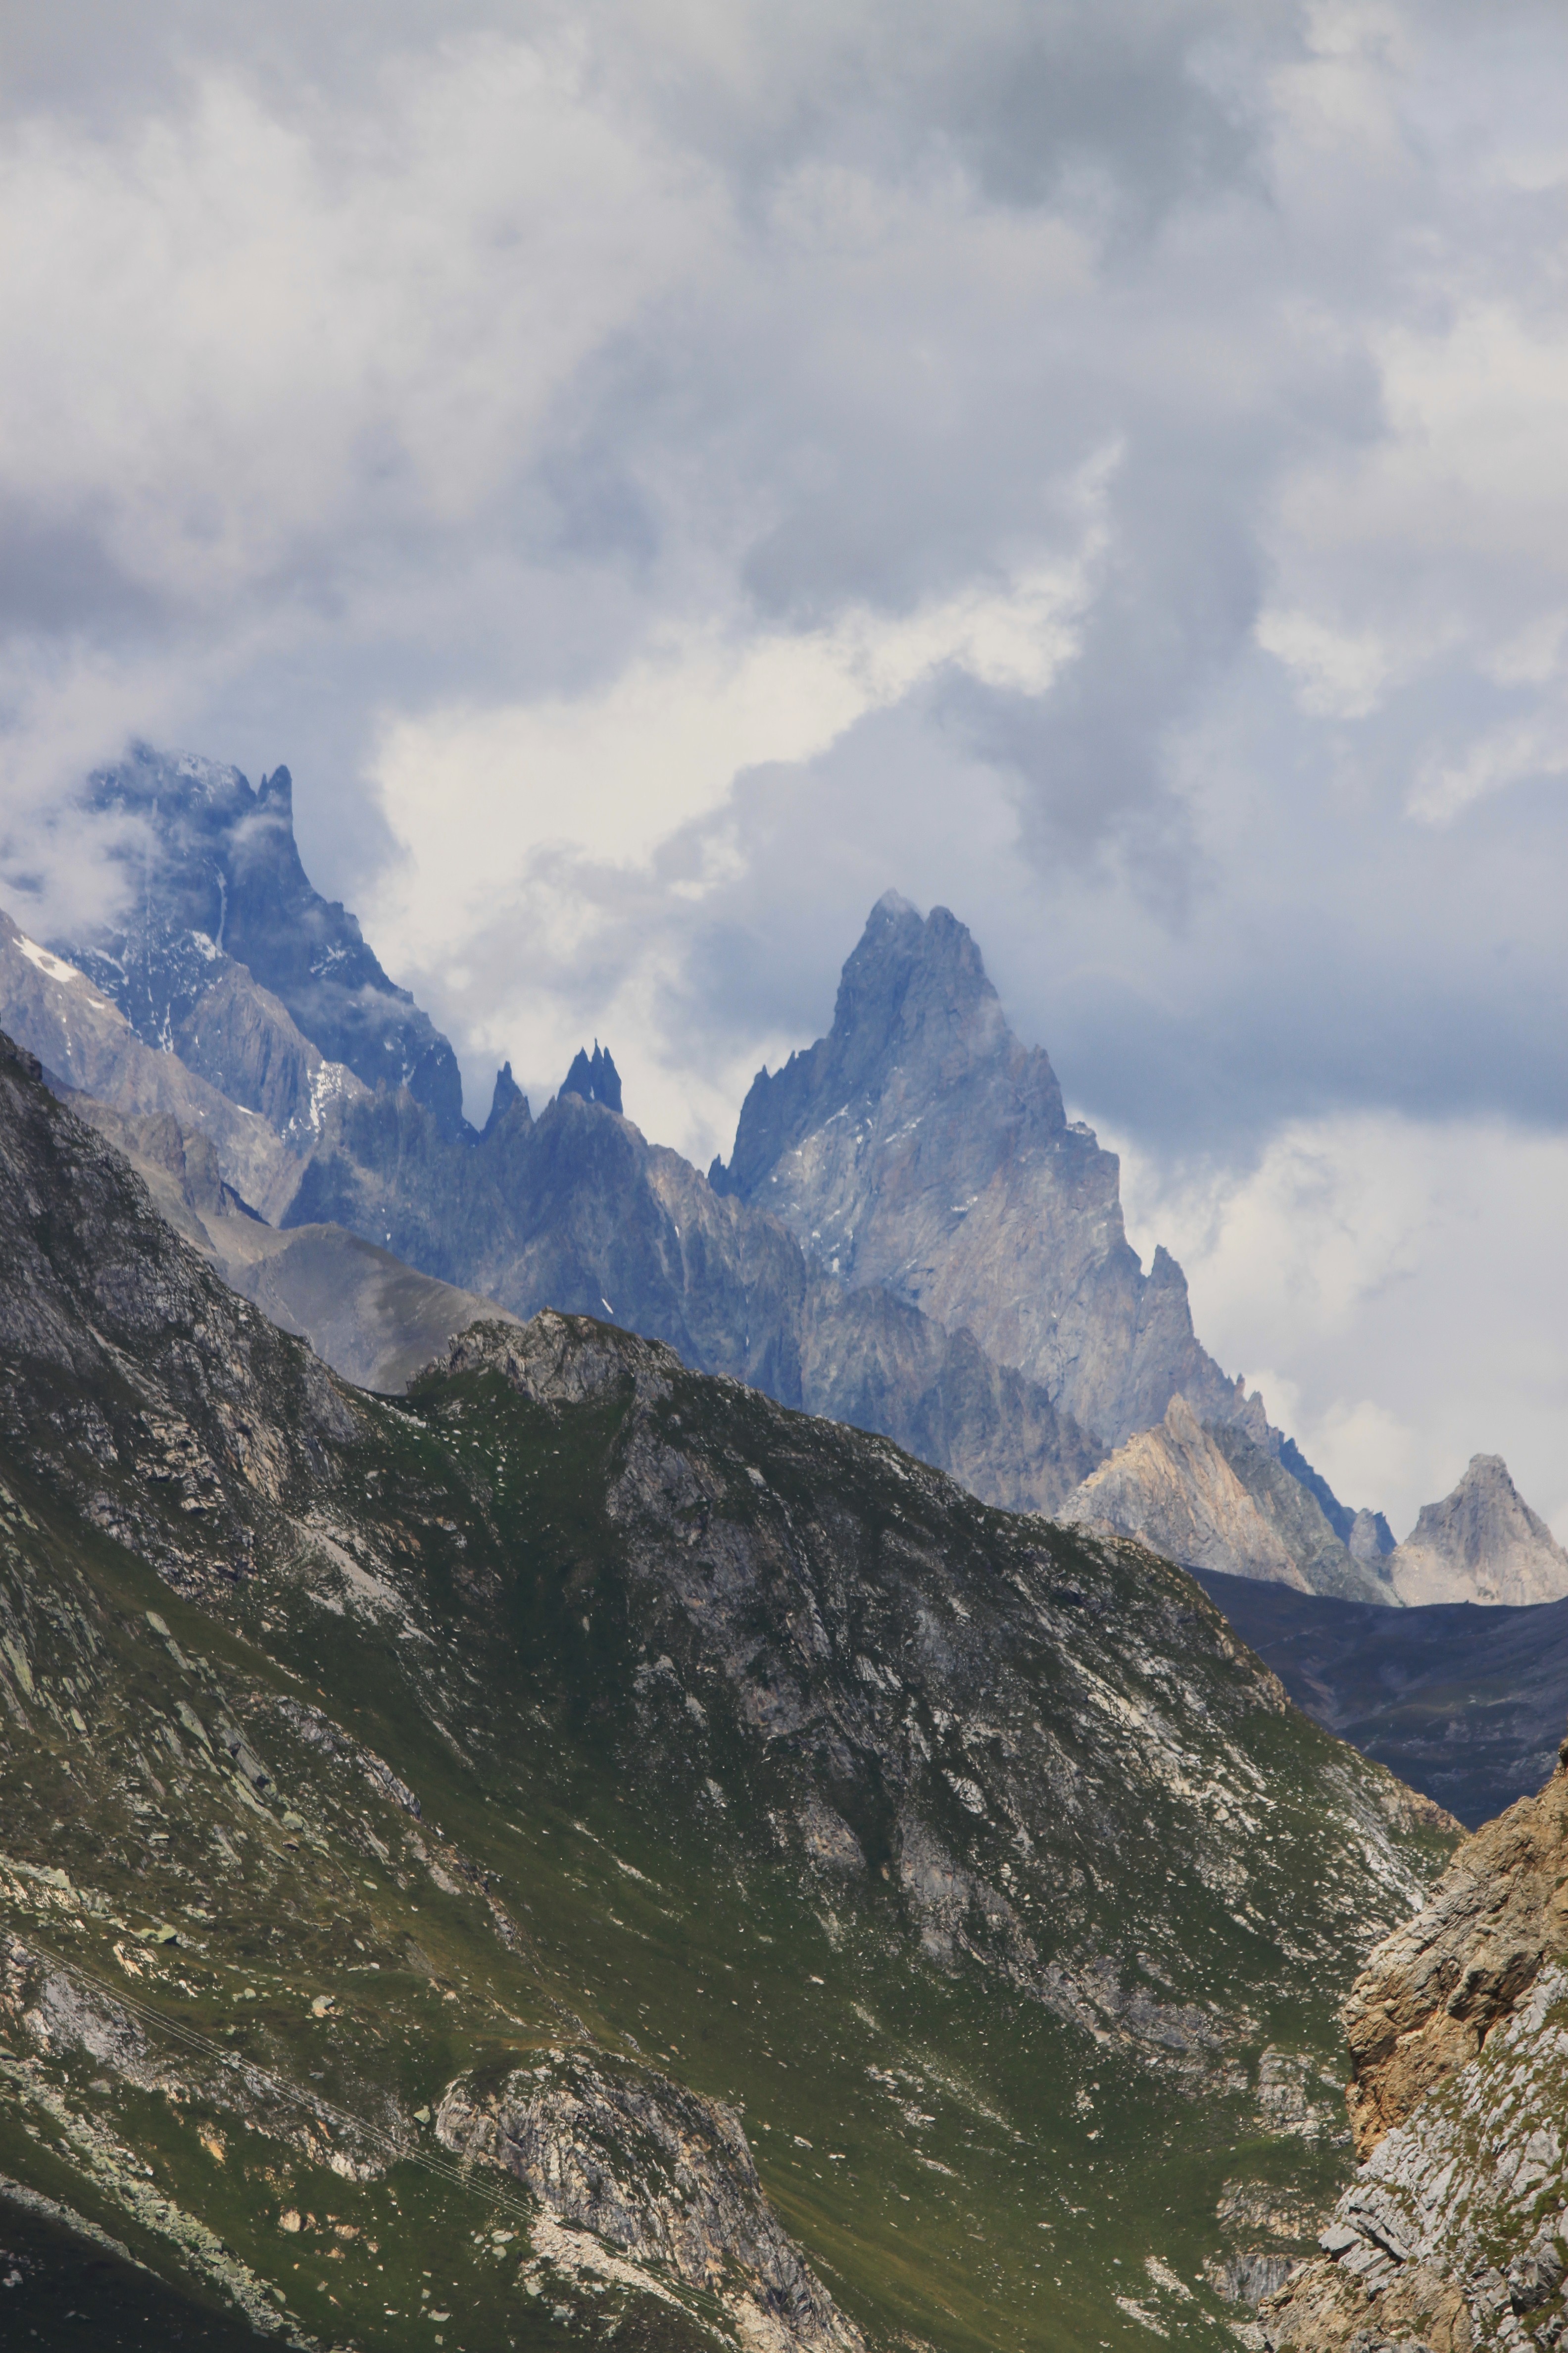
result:
<svg viewBox="0 0 1568 2353"><path fill-rule="evenodd" d="M287 774L92 793L134 913L0 927L0 2325L1552 2353L1568 1769L1389 1772L1549 1772L1502 1461L1345 1508L940 908L701 1176L597 1040L475 1129Z"/></svg>

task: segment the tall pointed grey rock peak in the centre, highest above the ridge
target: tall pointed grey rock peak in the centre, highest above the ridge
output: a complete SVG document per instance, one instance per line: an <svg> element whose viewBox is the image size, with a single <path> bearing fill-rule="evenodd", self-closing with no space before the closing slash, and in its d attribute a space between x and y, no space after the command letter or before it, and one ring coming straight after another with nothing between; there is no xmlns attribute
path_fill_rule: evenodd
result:
<svg viewBox="0 0 1568 2353"><path fill-rule="evenodd" d="M1194 1339L1175 1261L1143 1273L1114 1153L1067 1122L1051 1061L1013 1038L947 908L877 901L832 1031L759 1073L712 1179L846 1282L971 1329L1105 1445L1178 1391L1211 1421L1244 1405Z"/></svg>

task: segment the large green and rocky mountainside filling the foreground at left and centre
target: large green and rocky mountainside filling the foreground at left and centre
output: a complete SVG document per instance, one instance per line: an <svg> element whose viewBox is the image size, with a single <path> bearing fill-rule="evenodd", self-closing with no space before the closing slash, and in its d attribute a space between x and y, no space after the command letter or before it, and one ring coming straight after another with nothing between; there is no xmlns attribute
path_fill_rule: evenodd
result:
<svg viewBox="0 0 1568 2353"><path fill-rule="evenodd" d="M1450 1840L1187 1577L581 1318L355 1395L9 1054L0 1249L7 2320L1213 2341Z"/></svg>

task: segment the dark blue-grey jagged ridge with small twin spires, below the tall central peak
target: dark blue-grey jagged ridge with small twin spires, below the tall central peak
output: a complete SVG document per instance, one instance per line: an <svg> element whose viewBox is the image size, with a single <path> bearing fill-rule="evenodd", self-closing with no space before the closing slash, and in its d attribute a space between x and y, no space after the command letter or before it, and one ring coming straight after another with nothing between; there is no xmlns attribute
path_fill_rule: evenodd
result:
<svg viewBox="0 0 1568 2353"><path fill-rule="evenodd" d="M538 1120L515 1087L496 1099L473 1146L407 1094L334 1106L287 1224L348 1226L515 1315L607 1315L703 1372L884 1431L1009 1508L1060 1508L1098 1461L966 1332L882 1287L849 1292L630 1120L567 1089Z"/></svg>

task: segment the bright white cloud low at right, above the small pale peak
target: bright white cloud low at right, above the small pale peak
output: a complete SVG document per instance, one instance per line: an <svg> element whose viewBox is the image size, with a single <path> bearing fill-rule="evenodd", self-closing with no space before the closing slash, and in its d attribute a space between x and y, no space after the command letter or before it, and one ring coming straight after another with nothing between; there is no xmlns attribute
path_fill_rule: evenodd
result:
<svg viewBox="0 0 1568 2353"><path fill-rule="evenodd" d="M1121 1160L1128 1231L1276 1421L1396 1537L1472 1454L1507 1454L1568 1537L1568 1136L1495 1120L1300 1120L1246 1172ZM1523 1313L1521 1313L1523 1311Z"/></svg>

